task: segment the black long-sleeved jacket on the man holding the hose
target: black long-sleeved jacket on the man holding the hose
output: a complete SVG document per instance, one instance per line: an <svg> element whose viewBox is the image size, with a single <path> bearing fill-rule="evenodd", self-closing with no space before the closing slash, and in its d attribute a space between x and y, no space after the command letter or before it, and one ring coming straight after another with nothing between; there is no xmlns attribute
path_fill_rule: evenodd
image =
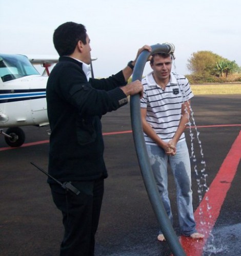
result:
<svg viewBox="0 0 241 256"><path fill-rule="evenodd" d="M101 117L127 104L126 95L118 88L125 84L122 71L88 82L81 62L59 58L46 88L50 175L59 181L107 177Z"/></svg>

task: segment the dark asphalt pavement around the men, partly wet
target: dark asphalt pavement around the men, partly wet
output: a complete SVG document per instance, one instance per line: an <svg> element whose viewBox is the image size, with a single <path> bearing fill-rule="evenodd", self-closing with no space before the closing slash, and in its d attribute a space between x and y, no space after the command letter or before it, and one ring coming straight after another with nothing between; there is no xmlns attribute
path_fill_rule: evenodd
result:
<svg viewBox="0 0 241 256"><path fill-rule="evenodd" d="M199 134L194 139L197 168L205 160L207 186L215 178L241 130L241 95L196 96L192 100ZM131 130L130 105L103 117L103 133ZM61 213L55 208L46 176L30 161L47 170L48 143L29 142L49 139L48 127L24 127L26 144L9 149L0 137L0 255L55 256L63 237ZM193 130L195 132L195 130ZM66 133L68 136L68 131ZM191 139L186 130L191 153ZM158 223L140 174L132 133L105 135L105 160L109 177L99 228L96 256L170 255L167 243L156 240ZM201 154L203 152L203 156ZM193 162L191 160L192 166ZM169 175L169 190L178 235L175 188ZM241 164L226 195L203 255L241 255ZM192 174L193 208L200 194ZM202 194L203 196L203 194ZM196 255L193 255L196 256Z"/></svg>

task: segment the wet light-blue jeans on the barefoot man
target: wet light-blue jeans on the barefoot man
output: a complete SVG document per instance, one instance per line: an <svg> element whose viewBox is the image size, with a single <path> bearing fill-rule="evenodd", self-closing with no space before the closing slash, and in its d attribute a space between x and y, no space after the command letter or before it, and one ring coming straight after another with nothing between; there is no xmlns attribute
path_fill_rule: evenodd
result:
<svg viewBox="0 0 241 256"><path fill-rule="evenodd" d="M168 217L173 223L170 200L168 197L167 167L170 164L175 185L180 230L183 235L190 236L196 231L193 216L192 190L191 190L191 166L186 141L176 145L176 155L168 156L157 145L147 145L150 164L156 180L157 189L162 198ZM162 234L162 231L159 232Z"/></svg>

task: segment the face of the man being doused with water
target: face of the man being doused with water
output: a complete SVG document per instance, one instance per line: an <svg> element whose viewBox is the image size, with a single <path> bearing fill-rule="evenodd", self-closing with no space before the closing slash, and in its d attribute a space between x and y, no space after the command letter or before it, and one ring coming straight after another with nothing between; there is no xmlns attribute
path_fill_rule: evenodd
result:
<svg viewBox="0 0 241 256"><path fill-rule="evenodd" d="M159 80L169 79L171 69L172 69L172 59L171 57L163 58L161 56L152 57L153 64L151 64L151 68L153 69L154 75Z"/></svg>

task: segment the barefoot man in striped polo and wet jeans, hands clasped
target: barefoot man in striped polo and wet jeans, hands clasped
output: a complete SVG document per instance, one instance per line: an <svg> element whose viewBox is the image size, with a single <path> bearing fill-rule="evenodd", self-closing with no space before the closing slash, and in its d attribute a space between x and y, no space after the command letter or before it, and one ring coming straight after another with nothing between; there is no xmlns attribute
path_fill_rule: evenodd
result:
<svg viewBox="0 0 241 256"><path fill-rule="evenodd" d="M140 100L144 137L150 164L169 219L172 221L168 197L167 167L170 164L177 191L180 231L193 239L202 239L193 216L191 167L185 140L189 121L190 99L193 97L186 77L171 72L173 56L153 54L153 71L143 80L144 97ZM162 230L157 239L165 241Z"/></svg>

